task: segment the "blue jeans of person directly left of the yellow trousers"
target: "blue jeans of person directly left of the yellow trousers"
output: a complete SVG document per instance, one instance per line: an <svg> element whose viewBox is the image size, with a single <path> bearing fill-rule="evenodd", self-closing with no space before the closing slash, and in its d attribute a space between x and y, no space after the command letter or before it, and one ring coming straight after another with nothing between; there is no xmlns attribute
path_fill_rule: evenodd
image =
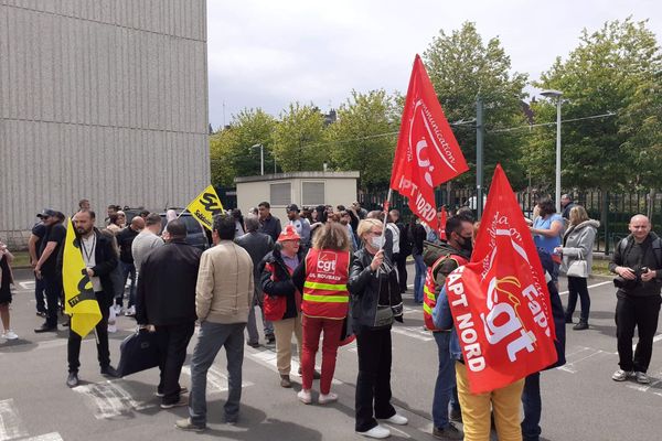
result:
<svg viewBox="0 0 662 441"><path fill-rule="evenodd" d="M459 410L458 388L455 379L455 361L450 356L450 332L433 332L437 342L439 356L439 372L435 384L435 398L433 400L433 422L438 429L448 427L448 404Z"/></svg>

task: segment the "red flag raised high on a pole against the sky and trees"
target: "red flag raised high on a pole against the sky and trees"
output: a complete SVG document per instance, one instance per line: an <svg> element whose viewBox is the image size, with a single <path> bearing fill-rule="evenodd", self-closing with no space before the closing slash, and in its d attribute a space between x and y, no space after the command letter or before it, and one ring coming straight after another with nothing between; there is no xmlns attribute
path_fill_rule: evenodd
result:
<svg viewBox="0 0 662 441"><path fill-rule="evenodd" d="M434 189L467 170L469 166L433 83L416 55L393 160L391 189L406 196L412 212L438 230Z"/></svg>

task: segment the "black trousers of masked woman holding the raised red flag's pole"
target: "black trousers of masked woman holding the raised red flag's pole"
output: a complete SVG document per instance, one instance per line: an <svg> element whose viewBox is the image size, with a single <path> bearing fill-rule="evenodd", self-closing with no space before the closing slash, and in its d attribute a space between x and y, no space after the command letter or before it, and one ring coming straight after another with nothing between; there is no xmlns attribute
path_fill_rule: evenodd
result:
<svg viewBox="0 0 662 441"><path fill-rule="evenodd" d="M391 406L391 330L363 329L356 334L356 345L355 430L365 432L377 426L375 418L387 419L395 415Z"/></svg>

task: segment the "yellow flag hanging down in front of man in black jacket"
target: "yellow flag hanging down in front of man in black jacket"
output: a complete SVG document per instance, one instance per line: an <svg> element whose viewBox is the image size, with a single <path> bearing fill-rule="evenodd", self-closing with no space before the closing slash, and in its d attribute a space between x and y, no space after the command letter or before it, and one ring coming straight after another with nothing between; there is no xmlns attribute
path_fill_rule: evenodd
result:
<svg viewBox="0 0 662 441"><path fill-rule="evenodd" d="M102 310L85 270L85 261L71 218L64 244L62 282L64 286L64 312L72 315L72 331L85 337L102 320Z"/></svg>

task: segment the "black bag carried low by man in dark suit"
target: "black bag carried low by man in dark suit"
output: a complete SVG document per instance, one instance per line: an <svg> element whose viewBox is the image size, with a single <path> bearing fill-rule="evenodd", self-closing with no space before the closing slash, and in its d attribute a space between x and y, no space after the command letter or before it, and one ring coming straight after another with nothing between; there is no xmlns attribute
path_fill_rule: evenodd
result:
<svg viewBox="0 0 662 441"><path fill-rule="evenodd" d="M159 366L157 333L138 329L121 342L119 353L117 373L120 377Z"/></svg>

